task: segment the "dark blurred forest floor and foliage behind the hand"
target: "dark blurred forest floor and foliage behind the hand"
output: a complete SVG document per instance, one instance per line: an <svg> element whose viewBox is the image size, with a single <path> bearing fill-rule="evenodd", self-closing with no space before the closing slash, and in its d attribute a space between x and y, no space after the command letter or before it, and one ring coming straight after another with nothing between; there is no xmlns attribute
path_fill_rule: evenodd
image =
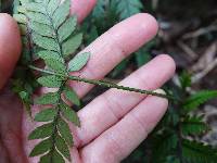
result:
<svg viewBox="0 0 217 163"><path fill-rule="evenodd" d="M0 1L0 9L12 13L12 0ZM158 35L117 65L106 76L108 80L118 83L161 53L170 54L177 64L175 76L164 88L181 100L170 101L164 120L124 163L217 162L216 9L216 0L98 0L80 26L86 47L136 13L156 17ZM84 103L103 91L95 88Z"/></svg>

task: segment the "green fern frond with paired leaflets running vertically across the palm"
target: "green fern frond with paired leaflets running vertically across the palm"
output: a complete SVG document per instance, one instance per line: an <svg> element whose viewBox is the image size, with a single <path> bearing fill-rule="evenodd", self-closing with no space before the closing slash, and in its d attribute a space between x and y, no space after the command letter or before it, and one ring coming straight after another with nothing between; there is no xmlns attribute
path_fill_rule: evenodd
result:
<svg viewBox="0 0 217 163"><path fill-rule="evenodd" d="M37 82L44 87L58 88L55 92L48 92L35 100L36 104L52 104L52 108L44 109L35 116L35 121L44 124L28 137L30 140L41 139L29 155L42 155L40 163L64 163L65 160L71 161L69 148L73 146L73 135L65 120L78 127L80 122L77 113L64 102L62 95L77 105L80 101L76 92L66 85L68 78L56 74L68 76L69 72L81 70L90 54L80 53L68 66L66 64L66 58L79 48L82 40L82 35L75 33L76 16L69 16L71 0L62 3L60 0L23 0L21 3L22 13L15 17L28 29L24 36L33 38L33 47L37 49L33 53L44 61L46 70L53 72L52 75L41 74ZM26 42L29 43L29 40Z"/></svg>

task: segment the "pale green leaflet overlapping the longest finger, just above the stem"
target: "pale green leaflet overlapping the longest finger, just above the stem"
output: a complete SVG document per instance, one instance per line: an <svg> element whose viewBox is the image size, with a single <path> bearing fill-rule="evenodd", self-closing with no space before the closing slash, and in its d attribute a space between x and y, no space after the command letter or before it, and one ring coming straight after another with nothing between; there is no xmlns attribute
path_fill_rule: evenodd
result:
<svg viewBox="0 0 217 163"><path fill-rule="evenodd" d="M73 58L73 60L68 63L69 72L77 72L80 71L90 59L90 52L79 53Z"/></svg>

